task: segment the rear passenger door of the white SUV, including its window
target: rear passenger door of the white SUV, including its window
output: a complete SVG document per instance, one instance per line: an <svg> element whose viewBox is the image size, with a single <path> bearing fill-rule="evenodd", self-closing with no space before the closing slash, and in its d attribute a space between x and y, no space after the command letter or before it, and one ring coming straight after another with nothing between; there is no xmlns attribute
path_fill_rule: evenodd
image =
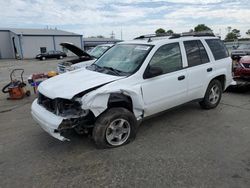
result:
<svg viewBox="0 0 250 188"><path fill-rule="evenodd" d="M187 57L188 99L202 98L207 80L214 69L201 40L184 41Z"/></svg>

